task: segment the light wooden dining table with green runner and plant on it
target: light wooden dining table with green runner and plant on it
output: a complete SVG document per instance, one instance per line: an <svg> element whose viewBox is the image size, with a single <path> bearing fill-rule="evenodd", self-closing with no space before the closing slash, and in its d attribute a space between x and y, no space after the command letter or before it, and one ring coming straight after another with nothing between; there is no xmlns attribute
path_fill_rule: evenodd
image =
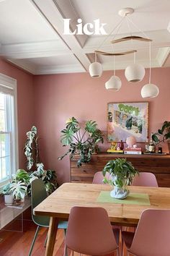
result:
<svg viewBox="0 0 170 256"><path fill-rule="evenodd" d="M58 221L68 220L73 206L102 207L107 210L110 222L119 226L137 226L145 209L170 209L170 188L130 186L129 189L130 193L147 194L151 205L125 204L123 200L98 202L100 192L112 190L107 184L64 183L58 187L34 209L35 215L50 216L45 255L53 255Z"/></svg>

